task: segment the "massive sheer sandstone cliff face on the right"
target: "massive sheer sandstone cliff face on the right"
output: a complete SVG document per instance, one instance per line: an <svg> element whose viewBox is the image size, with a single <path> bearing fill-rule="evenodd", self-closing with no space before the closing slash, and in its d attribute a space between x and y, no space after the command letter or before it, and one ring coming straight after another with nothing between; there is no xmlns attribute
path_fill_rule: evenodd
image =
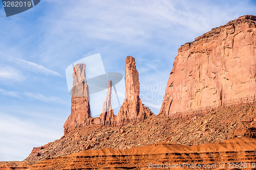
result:
<svg viewBox="0 0 256 170"><path fill-rule="evenodd" d="M256 16L241 16L179 48L160 113L189 116L255 101Z"/></svg>

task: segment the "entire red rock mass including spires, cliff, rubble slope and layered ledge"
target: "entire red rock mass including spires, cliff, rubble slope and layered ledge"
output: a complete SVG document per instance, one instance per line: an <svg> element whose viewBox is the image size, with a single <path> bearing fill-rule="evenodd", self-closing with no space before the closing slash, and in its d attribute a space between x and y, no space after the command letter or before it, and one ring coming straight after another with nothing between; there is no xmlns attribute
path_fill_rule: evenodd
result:
<svg viewBox="0 0 256 170"><path fill-rule="evenodd" d="M110 110L109 82L100 117L91 117L85 65L76 65L72 110L64 126L65 136L34 148L26 161L41 160L32 167L35 169L81 169L92 165L140 169L146 168L143 162L147 160L255 162L255 139L246 137L255 138L256 129L249 128L245 133L246 128L256 125L255 23L256 16L245 15L182 45L158 115L153 115L141 103L135 60L127 57L126 99L118 115L112 115ZM235 134L240 137L233 138ZM173 144L148 145L161 141ZM145 148L106 149L125 149L125 145L134 147L134 143ZM102 150L80 152L89 149Z"/></svg>

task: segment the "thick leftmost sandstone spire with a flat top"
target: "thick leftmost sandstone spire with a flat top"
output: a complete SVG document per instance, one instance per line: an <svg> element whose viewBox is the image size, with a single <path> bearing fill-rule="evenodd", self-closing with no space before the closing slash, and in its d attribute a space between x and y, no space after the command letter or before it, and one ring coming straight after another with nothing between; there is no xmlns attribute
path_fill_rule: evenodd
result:
<svg viewBox="0 0 256 170"><path fill-rule="evenodd" d="M64 124L64 133L89 124L90 97L86 82L86 65L76 64L73 71L71 114Z"/></svg>

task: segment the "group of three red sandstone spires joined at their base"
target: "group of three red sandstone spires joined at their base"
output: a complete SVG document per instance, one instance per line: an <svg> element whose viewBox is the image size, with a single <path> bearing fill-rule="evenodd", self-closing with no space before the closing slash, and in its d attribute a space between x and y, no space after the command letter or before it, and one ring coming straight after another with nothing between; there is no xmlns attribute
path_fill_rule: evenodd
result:
<svg viewBox="0 0 256 170"><path fill-rule="evenodd" d="M138 122L154 113L141 103L139 98L139 73L136 70L135 59L128 56L125 59L125 100L118 112L113 114L111 108L112 81L109 81L106 101L103 103L99 117L92 117L90 111L89 88L86 81L86 65L76 64L73 71L73 87L71 99L71 114L64 124L64 134L94 125L123 126L127 123Z"/></svg>

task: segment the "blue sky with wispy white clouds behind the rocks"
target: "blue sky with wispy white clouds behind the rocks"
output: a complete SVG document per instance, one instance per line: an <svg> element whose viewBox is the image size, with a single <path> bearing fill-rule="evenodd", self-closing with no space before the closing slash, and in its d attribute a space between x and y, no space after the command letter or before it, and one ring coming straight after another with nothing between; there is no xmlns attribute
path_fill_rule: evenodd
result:
<svg viewBox="0 0 256 170"><path fill-rule="evenodd" d="M151 96L142 102L157 114L180 45L255 9L255 1L42 0L6 17L1 5L0 161L63 135L73 62L100 53L106 72L124 74L125 57L135 57L141 86L155 85L141 89Z"/></svg>

